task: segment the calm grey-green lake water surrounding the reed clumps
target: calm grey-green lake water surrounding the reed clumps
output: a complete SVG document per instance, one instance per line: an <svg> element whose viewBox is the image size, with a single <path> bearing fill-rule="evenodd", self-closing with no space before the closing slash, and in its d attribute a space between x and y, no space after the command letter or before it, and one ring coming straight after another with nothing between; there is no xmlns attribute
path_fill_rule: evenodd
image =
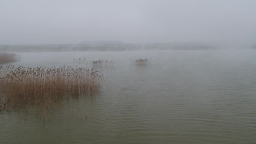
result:
<svg viewBox="0 0 256 144"><path fill-rule="evenodd" d="M103 91L70 99L42 122L0 112L0 144L256 143L256 50L20 53L15 66L97 66ZM146 66L130 59L150 59ZM61 109L61 110L60 110Z"/></svg>

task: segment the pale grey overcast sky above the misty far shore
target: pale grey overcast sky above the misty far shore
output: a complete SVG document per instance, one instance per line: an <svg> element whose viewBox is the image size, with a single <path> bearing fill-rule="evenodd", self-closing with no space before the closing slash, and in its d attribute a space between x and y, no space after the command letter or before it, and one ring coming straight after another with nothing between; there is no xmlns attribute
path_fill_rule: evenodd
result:
<svg viewBox="0 0 256 144"><path fill-rule="evenodd" d="M0 0L0 45L256 43L256 0Z"/></svg>

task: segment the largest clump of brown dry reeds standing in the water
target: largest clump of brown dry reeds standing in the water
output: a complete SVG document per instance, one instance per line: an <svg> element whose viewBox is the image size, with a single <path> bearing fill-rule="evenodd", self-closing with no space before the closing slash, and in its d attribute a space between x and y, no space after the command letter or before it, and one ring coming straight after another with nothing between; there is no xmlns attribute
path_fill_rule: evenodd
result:
<svg viewBox="0 0 256 144"><path fill-rule="evenodd" d="M100 92L104 80L101 71L83 67L0 67L0 90L9 107L45 105L69 96Z"/></svg>

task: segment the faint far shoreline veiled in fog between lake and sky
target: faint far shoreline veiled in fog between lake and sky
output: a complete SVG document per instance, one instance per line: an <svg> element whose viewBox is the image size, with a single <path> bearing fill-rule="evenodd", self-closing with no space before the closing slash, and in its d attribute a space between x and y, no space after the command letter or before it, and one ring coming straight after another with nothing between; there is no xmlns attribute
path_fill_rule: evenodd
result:
<svg viewBox="0 0 256 144"><path fill-rule="evenodd" d="M59 51L122 51L122 50L211 50L256 49L248 45L217 45L209 43L125 43L121 41L90 41L70 45L0 45L0 52Z"/></svg>

